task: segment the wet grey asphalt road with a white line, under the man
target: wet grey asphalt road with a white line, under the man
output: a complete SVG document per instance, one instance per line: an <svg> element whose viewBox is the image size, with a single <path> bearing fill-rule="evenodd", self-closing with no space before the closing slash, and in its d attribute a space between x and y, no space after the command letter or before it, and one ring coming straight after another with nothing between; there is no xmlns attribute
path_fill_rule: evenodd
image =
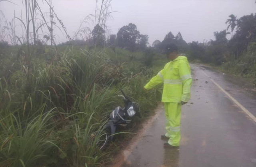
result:
<svg viewBox="0 0 256 167"><path fill-rule="evenodd" d="M162 106L122 167L256 167L256 122L205 74L256 117L253 85L206 67L191 68L192 97L182 107L180 147L163 147Z"/></svg>

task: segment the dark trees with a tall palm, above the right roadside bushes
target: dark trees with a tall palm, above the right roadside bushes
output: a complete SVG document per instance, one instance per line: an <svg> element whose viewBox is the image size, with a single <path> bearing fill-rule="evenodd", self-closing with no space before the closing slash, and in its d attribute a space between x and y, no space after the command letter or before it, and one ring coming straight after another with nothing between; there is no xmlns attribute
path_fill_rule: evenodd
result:
<svg viewBox="0 0 256 167"><path fill-rule="evenodd" d="M226 20L227 29L214 32L214 40L199 43L193 41L189 44L188 55L191 59L199 59L205 63L223 64L238 60L256 42L256 14L249 14L236 18L231 14ZM227 30L231 30L227 32ZM231 34L231 39L226 36Z"/></svg>

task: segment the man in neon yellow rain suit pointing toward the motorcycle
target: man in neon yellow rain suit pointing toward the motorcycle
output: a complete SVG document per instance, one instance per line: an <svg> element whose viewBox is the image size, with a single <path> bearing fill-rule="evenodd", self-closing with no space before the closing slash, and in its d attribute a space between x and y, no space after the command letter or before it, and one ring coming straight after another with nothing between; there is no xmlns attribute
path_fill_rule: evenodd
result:
<svg viewBox="0 0 256 167"><path fill-rule="evenodd" d="M186 104L190 99L192 78L188 60L185 56L178 55L176 45L166 46L165 52L170 62L144 88L148 90L164 83L162 102L164 102L167 132L161 138L168 139L164 147L177 147L180 146L181 105Z"/></svg>

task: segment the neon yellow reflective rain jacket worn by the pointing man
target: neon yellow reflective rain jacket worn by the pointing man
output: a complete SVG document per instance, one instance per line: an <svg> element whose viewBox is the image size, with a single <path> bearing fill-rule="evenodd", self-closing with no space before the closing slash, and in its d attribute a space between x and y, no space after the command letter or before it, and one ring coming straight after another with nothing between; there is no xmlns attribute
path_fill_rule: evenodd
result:
<svg viewBox="0 0 256 167"><path fill-rule="evenodd" d="M178 56L167 63L164 69L145 85L145 89L151 89L160 83L164 83L162 102L188 102L192 85L188 59L185 56Z"/></svg>

